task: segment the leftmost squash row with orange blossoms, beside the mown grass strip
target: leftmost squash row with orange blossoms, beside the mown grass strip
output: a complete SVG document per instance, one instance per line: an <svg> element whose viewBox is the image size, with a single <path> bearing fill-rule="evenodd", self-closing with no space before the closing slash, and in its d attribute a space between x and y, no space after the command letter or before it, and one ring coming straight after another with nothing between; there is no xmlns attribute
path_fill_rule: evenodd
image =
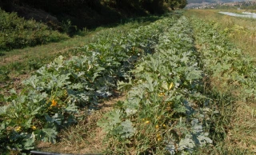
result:
<svg viewBox="0 0 256 155"><path fill-rule="evenodd" d="M55 142L60 129L76 122L79 108L109 97L142 55L154 53L159 36L174 22L162 18L138 29L110 30L80 49L80 56L60 56L37 70L23 81L21 93L10 91L0 108L1 148L33 149L35 141Z"/></svg>

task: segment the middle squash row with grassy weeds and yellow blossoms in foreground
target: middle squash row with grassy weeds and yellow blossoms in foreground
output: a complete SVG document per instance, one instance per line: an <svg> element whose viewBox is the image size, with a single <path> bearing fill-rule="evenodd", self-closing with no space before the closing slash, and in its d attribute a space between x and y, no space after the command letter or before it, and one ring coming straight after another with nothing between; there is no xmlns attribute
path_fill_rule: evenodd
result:
<svg viewBox="0 0 256 155"><path fill-rule="evenodd" d="M211 100L203 95L190 22L182 17L164 30L155 53L132 70L133 79L118 82L118 89L128 90L126 101L98 121L107 133L108 154L191 153L213 142L206 132Z"/></svg>

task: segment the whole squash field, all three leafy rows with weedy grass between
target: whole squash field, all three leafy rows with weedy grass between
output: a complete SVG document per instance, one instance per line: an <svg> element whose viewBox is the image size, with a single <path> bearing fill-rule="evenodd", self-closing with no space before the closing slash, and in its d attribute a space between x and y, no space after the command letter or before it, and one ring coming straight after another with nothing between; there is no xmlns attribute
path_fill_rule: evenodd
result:
<svg viewBox="0 0 256 155"><path fill-rule="evenodd" d="M255 58L235 38L254 30L214 11L180 12L75 36L75 50L35 66L0 97L1 152L50 142L59 153L253 154Z"/></svg>

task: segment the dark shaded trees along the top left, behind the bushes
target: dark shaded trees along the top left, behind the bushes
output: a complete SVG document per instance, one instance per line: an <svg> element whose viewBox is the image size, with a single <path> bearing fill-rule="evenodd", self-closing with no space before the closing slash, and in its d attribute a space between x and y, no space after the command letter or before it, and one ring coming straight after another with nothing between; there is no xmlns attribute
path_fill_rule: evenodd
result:
<svg viewBox="0 0 256 155"><path fill-rule="evenodd" d="M168 10L182 9L186 0L1 0L0 7L7 12L23 16L25 8L43 10L45 17L54 16L58 23L70 21L78 28L93 28L121 18L146 14L163 14ZM17 7L20 7L17 9ZM22 8L22 9L21 9ZM26 14L26 13L25 13ZM26 15L23 16L26 18ZM34 17L37 20L36 17ZM39 19L39 21L42 18ZM48 24L49 25L49 24ZM58 24L59 25L59 24ZM56 26L55 26L56 27Z"/></svg>

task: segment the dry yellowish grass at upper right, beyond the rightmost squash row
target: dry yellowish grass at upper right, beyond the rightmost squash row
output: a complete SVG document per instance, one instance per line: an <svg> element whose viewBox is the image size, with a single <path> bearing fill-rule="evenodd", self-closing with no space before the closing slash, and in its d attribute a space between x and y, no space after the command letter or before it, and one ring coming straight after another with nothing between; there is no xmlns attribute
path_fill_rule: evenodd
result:
<svg viewBox="0 0 256 155"><path fill-rule="evenodd" d="M214 22L213 26L218 26L220 30L225 30L232 42L242 49L243 53L256 58L256 20L253 18L237 18L218 14L219 11L223 10L188 10L186 13L208 22ZM238 10L228 11L237 12Z"/></svg>

